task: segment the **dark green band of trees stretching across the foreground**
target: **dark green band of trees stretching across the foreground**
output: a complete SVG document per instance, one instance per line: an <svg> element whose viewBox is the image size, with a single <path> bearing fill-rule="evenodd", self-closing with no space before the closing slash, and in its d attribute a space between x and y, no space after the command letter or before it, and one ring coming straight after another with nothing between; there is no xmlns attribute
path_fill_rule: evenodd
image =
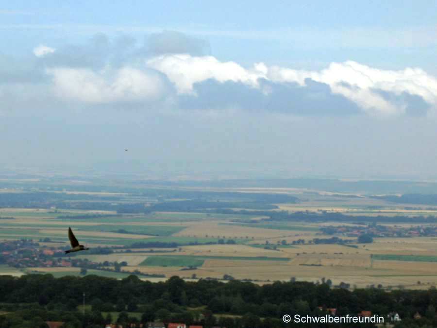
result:
<svg viewBox="0 0 437 328"><path fill-rule="evenodd" d="M228 283L202 279L186 282L176 276L158 283L141 281L136 276L122 280L93 275L57 279L51 275L0 276L0 311L11 310L4 308L6 303L15 310L19 310L22 304L34 304L32 309L39 311L33 312L34 317L65 321L65 316L70 315L72 317L67 321L72 326L68 327L78 328L82 326L76 325L77 322L81 323L84 318L76 309L82 304L85 293L86 303L92 305L92 311L85 313L88 316L86 320L91 320L96 325L106 319L101 312L137 311L142 313L144 322L184 320L186 323L202 323L208 328L218 323L213 314L226 313L241 316L238 320L221 322L228 328L275 328L284 327L279 320L284 314L324 315L325 312L319 310L319 307L324 307L337 308L337 315L356 315L366 310L386 316L387 313L396 311L406 319L419 312L424 315L421 321L423 324L429 323L432 327L437 327L435 311L431 315L431 310L437 306L435 289L398 290L388 293L377 288L350 291L347 288L331 288L330 285L328 280L323 280L320 284L290 281L259 286L233 279ZM200 312L188 310L188 307L200 306L206 308L202 308ZM26 321L29 313L19 311L16 314ZM260 317L265 319L261 320ZM126 319L125 314L123 318ZM0 316L0 327L18 327L10 321L3 325L2 322L6 319L12 320L11 317ZM135 321L129 316L126 320ZM249 322L252 326L248 326ZM408 320L403 321L405 322ZM269 326L265 326L266 323Z"/></svg>

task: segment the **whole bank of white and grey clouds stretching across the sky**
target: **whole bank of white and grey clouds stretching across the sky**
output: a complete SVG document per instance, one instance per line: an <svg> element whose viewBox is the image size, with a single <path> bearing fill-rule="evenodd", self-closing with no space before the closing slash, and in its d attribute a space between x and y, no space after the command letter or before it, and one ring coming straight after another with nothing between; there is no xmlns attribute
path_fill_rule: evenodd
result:
<svg viewBox="0 0 437 328"><path fill-rule="evenodd" d="M40 45L19 80L14 78L17 70L2 58L0 99L11 110L52 102L298 116L424 116L436 111L437 79L420 68L385 70L354 61L319 71L264 63L246 68L208 52L206 41L171 31L151 35L140 47L127 36L109 40L104 35L56 50ZM20 103L14 97L23 91L27 95Z"/></svg>

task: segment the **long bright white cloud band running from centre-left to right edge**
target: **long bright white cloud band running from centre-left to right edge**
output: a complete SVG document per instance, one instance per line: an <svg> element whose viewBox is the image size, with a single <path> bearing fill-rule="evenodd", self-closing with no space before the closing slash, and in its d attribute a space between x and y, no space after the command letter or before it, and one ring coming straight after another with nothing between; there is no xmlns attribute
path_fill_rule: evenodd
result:
<svg viewBox="0 0 437 328"><path fill-rule="evenodd" d="M166 74L181 94L193 93L195 83L211 78L219 82L241 82L252 87L259 87L259 78L294 82L301 86L305 85L305 79L310 78L327 84L333 93L353 101L370 115L399 115L408 106L406 103L394 104L378 91L398 96L403 93L417 95L428 104L437 105L437 79L418 68L384 70L347 61L332 63L320 71L267 67L263 63L255 64L253 69L245 69L235 62L220 62L212 56L193 57L188 54L162 55L148 60L147 65Z"/></svg>

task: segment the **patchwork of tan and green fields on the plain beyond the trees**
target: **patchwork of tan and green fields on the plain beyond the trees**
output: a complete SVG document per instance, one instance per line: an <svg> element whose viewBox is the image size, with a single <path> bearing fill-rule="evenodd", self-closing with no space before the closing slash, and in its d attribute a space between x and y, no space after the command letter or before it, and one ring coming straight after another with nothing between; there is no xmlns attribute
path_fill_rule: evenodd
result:
<svg viewBox="0 0 437 328"><path fill-rule="evenodd" d="M144 193L139 191L137 195L105 191L68 191L67 194L124 197L114 203L125 205L134 202L135 206L139 204L141 208L150 208L154 204L185 202L190 199L183 197L182 191L206 191L202 188L176 190L173 195L173 190L169 192L164 187L162 190L164 190L163 195L161 195L161 190L149 193L147 190ZM175 211L160 210L134 214L117 214L117 211L98 209L1 208L0 217L14 217L15 219L0 221L0 239L33 239L35 242L40 242L40 239L50 238L55 242L40 242L40 246L65 248L68 246L67 228L71 226L78 240L91 248L97 246L110 248L115 246L116 248L112 249L114 253L107 255L81 252L75 256L63 257L63 259L88 259L98 263L127 262L127 266L123 266L122 270L131 273L138 270L144 274L165 275L166 278L177 275L185 279L192 277L223 279L224 275L229 275L236 279L252 279L259 284L265 284L274 280L288 281L292 277L297 280L316 282L324 277L331 279L334 284L344 282L349 283L351 287L381 284L384 288L399 288L400 285L408 288L429 288L437 284L437 237L374 238L372 243L357 244L356 237L348 237L346 233L328 235L320 230L326 226L356 226L352 223L353 220L350 222L335 222L331 221L332 219L324 221L323 211L332 214L331 218L335 217L336 213L361 215L364 218L364 223L360 225L361 228L369 224L367 217L370 218L369 222L375 220L377 224L392 227L394 224L387 223L390 221L378 222L376 216L437 215L436 206L390 203L382 199L367 197L360 192L348 194L292 188L210 188L207 191L221 191L222 193L244 191L248 193L248 196L238 195L238 199L232 199L235 197L232 193L224 196L194 194L191 198L193 204L202 204L202 202L214 204L214 197L217 196L220 197L221 205L226 202L236 204L233 207L235 210L238 202L246 205L250 203L250 200L246 199L250 193L263 192L269 193L266 199L272 197L271 193L277 193L296 196L299 201L291 203L287 200L288 203L272 203L278 208L268 212L256 209L264 206L265 199L261 199L262 206L257 207L259 204L251 203L254 205L253 208L242 212L246 214L238 214L237 211L232 214L214 213L209 207L203 213L191 207L186 207L186 210L193 210L193 212L184 212L179 211L179 207L173 207L173 204L170 208L174 208ZM153 199L154 193L159 198ZM104 208L108 208L106 204L112 201L105 202ZM71 204L76 206L74 202ZM276 219L272 215L269 218L269 213L276 213L278 210L319 213L321 219L307 217L308 222L304 222L305 215L302 215L302 218L295 215L291 219L286 215L283 217L278 215ZM231 211L231 208L220 209L220 212ZM88 217L84 217L85 215ZM265 220L266 218L269 220ZM410 227L418 224L403 221L396 225ZM433 225L430 224L430 226ZM351 245L312 243L315 238L330 239L334 236L351 241ZM296 244L296 241L302 240L305 244ZM134 243L136 245L133 245ZM266 249L267 244L268 247L276 249ZM173 252L173 250L176 251ZM52 273L55 276L78 276L80 274L79 268L50 268L37 265L39 266L37 268L27 268L27 272ZM23 274L20 270L4 266L0 266L0 273L17 276ZM88 274L117 278L128 275L127 273L91 269L88 270ZM148 279L143 276L139 277ZM163 278L156 279L162 280Z"/></svg>

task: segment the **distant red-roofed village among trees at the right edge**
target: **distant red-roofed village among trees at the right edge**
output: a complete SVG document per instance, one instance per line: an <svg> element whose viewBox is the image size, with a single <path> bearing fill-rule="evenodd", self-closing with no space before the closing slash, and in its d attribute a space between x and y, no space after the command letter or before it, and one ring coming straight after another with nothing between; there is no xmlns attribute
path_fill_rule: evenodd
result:
<svg viewBox="0 0 437 328"><path fill-rule="evenodd" d="M326 234L341 234L346 237L358 237L369 234L373 237L436 237L437 225L341 225L321 228Z"/></svg>

